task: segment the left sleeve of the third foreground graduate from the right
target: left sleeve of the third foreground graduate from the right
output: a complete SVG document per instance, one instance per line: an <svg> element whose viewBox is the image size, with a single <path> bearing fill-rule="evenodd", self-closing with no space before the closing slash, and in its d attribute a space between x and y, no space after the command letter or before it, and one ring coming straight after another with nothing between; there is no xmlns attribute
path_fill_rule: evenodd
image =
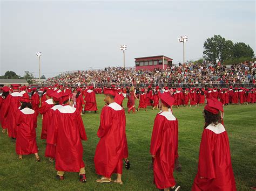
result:
<svg viewBox="0 0 256 191"><path fill-rule="evenodd" d="M97 132L98 137L103 137L112 125L111 109L108 107L102 108L102 113L100 114L100 125Z"/></svg>

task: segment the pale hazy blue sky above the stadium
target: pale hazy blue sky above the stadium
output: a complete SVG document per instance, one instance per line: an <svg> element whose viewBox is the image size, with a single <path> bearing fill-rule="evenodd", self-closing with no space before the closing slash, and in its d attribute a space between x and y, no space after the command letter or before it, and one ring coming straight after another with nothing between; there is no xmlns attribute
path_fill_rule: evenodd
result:
<svg viewBox="0 0 256 191"><path fill-rule="evenodd" d="M203 43L220 34L255 52L254 1L1 1L0 75L13 70L41 74L126 66L134 58L166 55L183 59L178 36L187 35L186 60L203 55Z"/></svg>

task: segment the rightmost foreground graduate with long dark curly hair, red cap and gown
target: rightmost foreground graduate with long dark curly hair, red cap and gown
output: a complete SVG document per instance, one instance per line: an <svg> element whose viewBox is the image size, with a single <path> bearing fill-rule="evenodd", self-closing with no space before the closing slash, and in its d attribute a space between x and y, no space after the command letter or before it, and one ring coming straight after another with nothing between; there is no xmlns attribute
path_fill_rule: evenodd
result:
<svg viewBox="0 0 256 191"><path fill-rule="evenodd" d="M200 143L198 172L192 191L235 191L230 145L220 116L223 104L217 99L207 99L204 108L205 126Z"/></svg>

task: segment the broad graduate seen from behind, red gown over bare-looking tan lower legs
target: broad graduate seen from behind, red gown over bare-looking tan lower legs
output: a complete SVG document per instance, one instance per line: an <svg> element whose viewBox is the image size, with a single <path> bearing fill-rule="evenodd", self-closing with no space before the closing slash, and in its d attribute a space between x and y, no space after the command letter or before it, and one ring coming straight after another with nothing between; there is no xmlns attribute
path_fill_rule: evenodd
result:
<svg viewBox="0 0 256 191"><path fill-rule="evenodd" d="M87 137L79 111L70 106L72 96L71 91L66 90L62 97L63 107L55 111L58 114L53 118L55 126L49 135L49 144L56 144L57 178L63 180L64 172L79 172L79 181L86 182L81 140L87 140Z"/></svg>

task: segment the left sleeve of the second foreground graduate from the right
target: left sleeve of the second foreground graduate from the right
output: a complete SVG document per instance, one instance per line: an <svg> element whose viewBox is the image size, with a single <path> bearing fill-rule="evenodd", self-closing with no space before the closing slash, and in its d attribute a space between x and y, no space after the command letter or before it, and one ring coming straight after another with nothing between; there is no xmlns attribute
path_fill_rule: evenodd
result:
<svg viewBox="0 0 256 191"><path fill-rule="evenodd" d="M162 130L164 126L163 117L159 115L154 119L154 127L151 136L150 153L155 155L161 146Z"/></svg>

